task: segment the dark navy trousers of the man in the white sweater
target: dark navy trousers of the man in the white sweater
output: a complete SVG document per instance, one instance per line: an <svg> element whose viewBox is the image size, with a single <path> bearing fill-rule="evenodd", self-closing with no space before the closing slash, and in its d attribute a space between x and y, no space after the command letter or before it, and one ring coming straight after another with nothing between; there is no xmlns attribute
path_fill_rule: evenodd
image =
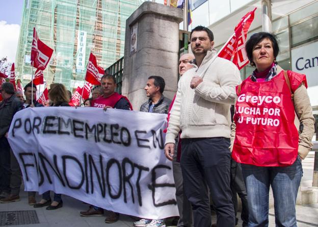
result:
<svg viewBox="0 0 318 227"><path fill-rule="evenodd" d="M217 226L235 226L230 189L230 139L182 139L181 168L184 193L193 210L194 227L210 227L208 189L216 206Z"/></svg>

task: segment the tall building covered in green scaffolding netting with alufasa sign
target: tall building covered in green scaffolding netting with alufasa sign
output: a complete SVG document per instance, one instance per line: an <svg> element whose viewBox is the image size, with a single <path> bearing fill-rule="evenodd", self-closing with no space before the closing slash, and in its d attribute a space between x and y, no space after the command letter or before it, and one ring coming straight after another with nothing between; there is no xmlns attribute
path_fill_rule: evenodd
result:
<svg viewBox="0 0 318 227"><path fill-rule="evenodd" d="M16 55L16 74L30 82L33 28L54 49L44 71L47 84L83 86L92 52L103 68L124 54L126 19L143 0L25 0Z"/></svg>

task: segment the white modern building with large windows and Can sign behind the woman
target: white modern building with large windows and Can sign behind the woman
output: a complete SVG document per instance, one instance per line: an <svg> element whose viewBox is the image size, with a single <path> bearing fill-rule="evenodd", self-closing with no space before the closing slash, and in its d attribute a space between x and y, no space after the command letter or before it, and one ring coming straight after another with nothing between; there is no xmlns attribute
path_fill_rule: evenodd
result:
<svg viewBox="0 0 318 227"><path fill-rule="evenodd" d="M318 114L318 1L271 2L272 32L277 36L280 47L278 64L285 70L306 74L310 102L314 114ZM255 7L257 10L248 38L262 31L260 0L191 0L193 22L189 31L198 25L208 27L215 34L215 46L219 50L241 18ZM183 24L180 24L180 29L183 29ZM254 69L250 65L245 66L241 70L242 79L246 79Z"/></svg>

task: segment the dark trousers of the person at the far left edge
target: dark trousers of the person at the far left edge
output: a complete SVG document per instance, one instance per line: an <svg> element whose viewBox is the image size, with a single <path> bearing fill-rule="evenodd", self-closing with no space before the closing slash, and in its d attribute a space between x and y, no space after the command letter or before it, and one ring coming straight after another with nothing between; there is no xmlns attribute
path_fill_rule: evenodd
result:
<svg viewBox="0 0 318 227"><path fill-rule="evenodd" d="M8 139L0 138L0 192L10 193L10 145Z"/></svg>

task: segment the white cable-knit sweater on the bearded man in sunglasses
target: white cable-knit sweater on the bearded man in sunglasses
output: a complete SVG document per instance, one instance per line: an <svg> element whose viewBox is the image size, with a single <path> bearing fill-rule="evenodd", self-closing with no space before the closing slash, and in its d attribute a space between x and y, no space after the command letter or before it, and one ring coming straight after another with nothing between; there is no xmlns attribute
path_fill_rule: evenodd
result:
<svg viewBox="0 0 318 227"><path fill-rule="evenodd" d="M166 144L181 138L230 138L230 106L236 97L235 86L241 83L240 71L230 61L214 57L216 49L208 51L200 67L183 74L171 109ZM190 88L198 75L203 82Z"/></svg>

